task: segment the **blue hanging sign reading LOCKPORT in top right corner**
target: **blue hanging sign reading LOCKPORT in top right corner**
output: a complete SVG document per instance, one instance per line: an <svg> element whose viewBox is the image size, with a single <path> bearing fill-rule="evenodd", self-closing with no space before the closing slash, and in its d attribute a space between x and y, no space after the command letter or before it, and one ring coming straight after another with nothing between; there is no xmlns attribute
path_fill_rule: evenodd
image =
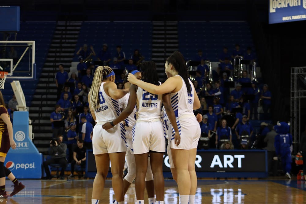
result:
<svg viewBox="0 0 306 204"><path fill-rule="evenodd" d="M306 0L269 0L269 24L306 20Z"/></svg>

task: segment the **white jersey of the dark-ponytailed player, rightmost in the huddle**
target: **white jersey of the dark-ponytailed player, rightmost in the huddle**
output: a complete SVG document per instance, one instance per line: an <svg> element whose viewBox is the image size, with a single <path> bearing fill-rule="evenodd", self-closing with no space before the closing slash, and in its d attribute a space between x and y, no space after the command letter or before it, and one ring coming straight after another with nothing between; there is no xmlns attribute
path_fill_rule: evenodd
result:
<svg viewBox="0 0 306 204"><path fill-rule="evenodd" d="M183 115L193 114L194 90L192 89L192 82L188 79L191 86L191 93L188 94L185 81L182 77L181 79L183 81L181 89L176 93L170 93L171 106L176 118Z"/></svg>

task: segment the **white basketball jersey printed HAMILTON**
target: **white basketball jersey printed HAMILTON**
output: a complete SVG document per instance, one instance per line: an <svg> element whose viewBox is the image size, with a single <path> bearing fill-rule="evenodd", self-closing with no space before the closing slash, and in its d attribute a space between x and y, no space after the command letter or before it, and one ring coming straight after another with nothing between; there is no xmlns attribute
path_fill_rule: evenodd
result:
<svg viewBox="0 0 306 204"><path fill-rule="evenodd" d="M118 101L106 95L101 83L99 90L99 108L95 109L96 122L112 121L120 115Z"/></svg>

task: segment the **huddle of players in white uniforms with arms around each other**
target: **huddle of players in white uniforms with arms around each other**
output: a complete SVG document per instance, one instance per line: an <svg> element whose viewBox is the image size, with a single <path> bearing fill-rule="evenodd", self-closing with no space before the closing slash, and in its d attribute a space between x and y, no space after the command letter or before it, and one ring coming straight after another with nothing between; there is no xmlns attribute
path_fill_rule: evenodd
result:
<svg viewBox="0 0 306 204"><path fill-rule="evenodd" d="M139 70L128 74L122 90L117 89L110 67L99 66L95 71L88 95L96 122L92 144L97 174L91 203L99 203L102 198L109 162L114 203L124 203L124 195L134 179L138 204L144 203L145 187L149 204L164 203L162 162L167 151L180 203L192 204L200 138L200 125L193 110L200 107L200 101L195 97L184 57L174 52L167 58L168 79L164 83L160 83L153 61L141 63ZM128 173L122 179L125 160Z"/></svg>

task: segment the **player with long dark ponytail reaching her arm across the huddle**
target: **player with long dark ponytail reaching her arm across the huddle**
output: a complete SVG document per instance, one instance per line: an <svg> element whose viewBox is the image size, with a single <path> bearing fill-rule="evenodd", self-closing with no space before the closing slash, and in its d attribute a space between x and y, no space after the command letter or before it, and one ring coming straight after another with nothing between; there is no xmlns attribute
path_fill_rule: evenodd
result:
<svg viewBox="0 0 306 204"><path fill-rule="evenodd" d="M174 135L170 143L174 168L177 172L177 185L181 203L187 204L189 201L192 204L197 186L196 148L201 134L200 125L193 110L200 108L200 100L195 97L196 91L188 79L187 66L180 52L176 51L167 58L165 72L168 79L160 86L137 80L132 74L129 74L128 81L152 94L170 93L171 105L181 135L181 143L178 146L173 140Z"/></svg>

